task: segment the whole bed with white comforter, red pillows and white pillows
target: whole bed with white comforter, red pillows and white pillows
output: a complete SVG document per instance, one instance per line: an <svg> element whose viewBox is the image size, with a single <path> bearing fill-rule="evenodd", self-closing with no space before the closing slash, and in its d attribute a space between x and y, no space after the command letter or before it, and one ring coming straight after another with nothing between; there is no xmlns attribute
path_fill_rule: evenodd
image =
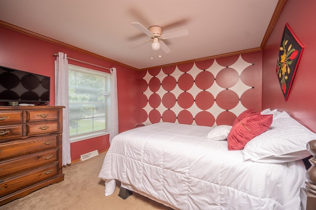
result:
<svg viewBox="0 0 316 210"><path fill-rule="evenodd" d="M160 122L118 134L99 177L106 196L118 180L173 209L299 210L310 140L315 133L270 109L245 110L233 126Z"/></svg>

